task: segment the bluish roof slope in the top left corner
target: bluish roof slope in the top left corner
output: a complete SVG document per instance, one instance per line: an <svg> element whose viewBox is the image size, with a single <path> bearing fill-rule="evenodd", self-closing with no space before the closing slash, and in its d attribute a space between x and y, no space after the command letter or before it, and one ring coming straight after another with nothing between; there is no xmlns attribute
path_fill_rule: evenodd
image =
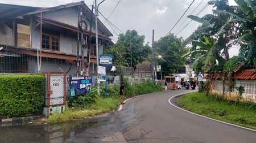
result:
<svg viewBox="0 0 256 143"><path fill-rule="evenodd" d="M0 18L17 18L29 12L38 10L39 7L18 6L0 3Z"/></svg>

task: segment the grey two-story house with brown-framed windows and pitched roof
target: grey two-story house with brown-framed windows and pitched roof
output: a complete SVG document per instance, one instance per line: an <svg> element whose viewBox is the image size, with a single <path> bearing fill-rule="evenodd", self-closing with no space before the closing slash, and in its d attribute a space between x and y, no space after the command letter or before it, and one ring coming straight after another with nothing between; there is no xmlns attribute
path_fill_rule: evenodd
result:
<svg viewBox="0 0 256 143"><path fill-rule="evenodd" d="M50 8L0 3L0 73L75 75L84 71L81 68L84 61L90 63L89 72L93 75L96 73L96 15L91 14L84 1ZM106 45L113 44L109 38L113 35L97 21L100 55ZM92 38L89 38L90 27Z"/></svg>

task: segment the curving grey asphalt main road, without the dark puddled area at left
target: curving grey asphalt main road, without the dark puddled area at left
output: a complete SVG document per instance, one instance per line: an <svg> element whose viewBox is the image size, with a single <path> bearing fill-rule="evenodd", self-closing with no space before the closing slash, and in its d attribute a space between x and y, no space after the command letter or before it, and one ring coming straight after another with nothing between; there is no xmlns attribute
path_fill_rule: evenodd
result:
<svg viewBox="0 0 256 143"><path fill-rule="evenodd" d="M256 132L220 123L172 106L169 99L192 90L170 90L127 100L115 123L127 142L255 143Z"/></svg>

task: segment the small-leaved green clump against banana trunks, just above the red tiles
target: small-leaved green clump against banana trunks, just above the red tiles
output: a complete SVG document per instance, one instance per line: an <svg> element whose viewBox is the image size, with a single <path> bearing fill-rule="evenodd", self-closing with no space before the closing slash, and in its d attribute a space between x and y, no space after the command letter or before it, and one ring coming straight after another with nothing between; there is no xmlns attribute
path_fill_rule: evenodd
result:
<svg viewBox="0 0 256 143"><path fill-rule="evenodd" d="M241 62L244 62L245 58L240 56L234 56L228 62L224 64L223 73L228 74L230 71L233 71L235 68L241 65Z"/></svg>

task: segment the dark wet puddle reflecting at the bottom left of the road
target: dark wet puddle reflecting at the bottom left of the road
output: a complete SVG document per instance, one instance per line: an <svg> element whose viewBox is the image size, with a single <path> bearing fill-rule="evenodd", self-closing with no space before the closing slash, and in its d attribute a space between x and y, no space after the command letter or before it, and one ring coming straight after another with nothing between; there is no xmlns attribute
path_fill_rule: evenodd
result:
<svg viewBox="0 0 256 143"><path fill-rule="evenodd" d="M98 119L84 119L57 124L0 127L0 142L62 143L67 138L83 132L86 128L98 122Z"/></svg>

